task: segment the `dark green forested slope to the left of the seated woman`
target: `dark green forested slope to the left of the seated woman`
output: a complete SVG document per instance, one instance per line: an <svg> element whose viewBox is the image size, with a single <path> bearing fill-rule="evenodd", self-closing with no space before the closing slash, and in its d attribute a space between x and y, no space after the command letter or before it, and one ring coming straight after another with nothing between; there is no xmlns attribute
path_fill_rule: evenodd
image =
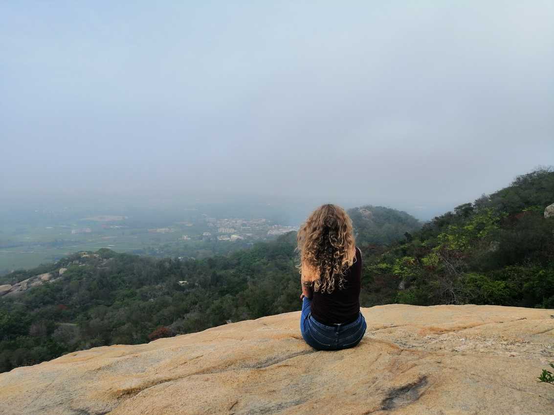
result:
<svg viewBox="0 0 554 415"><path fill-rule="evenodd" d="M291 232L204 260L160 260L104 249L4 276L4 283L16 283L33 273L67 268L58 281L0 297L0 371L68 351L146 343L226 320L296 310L300 277L294 237Z"/></svg>

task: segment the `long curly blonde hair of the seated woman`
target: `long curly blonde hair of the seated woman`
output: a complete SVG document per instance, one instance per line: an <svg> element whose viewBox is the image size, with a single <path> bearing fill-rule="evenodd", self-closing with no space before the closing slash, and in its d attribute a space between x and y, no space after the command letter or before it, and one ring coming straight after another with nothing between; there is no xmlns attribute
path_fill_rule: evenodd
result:
<svg viewBox="0 0 554 415"><path fill-rule="evenodd" d="M300 263L296 266L314 290L332 293L344 287L346 270L356 260L352 220L342 207L321 205L300 226L296 236Z"/></svg>

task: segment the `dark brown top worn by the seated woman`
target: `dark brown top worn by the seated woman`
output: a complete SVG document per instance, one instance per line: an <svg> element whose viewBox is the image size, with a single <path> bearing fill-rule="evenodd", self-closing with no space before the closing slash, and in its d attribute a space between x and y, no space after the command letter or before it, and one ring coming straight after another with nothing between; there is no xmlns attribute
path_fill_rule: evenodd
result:
<svg viewBox="0 0 554 415"><path fill-rule="evenodd" d="M356 321L360 313L362 252L356 247L356 261L345 272L345 288L338 288L338 279L331 294L314 291L311 313L320 323L332 325Z"/></svg>

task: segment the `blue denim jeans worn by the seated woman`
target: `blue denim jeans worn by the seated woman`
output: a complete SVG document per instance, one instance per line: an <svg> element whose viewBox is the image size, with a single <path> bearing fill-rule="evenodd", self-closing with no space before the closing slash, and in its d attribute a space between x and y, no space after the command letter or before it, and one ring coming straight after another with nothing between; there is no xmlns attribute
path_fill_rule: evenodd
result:
<svg viewBox="0 0 554 415"><path fill-rule="evenodd" d="M358 319L348 324L337 323L332 326L321 324L311 315L311 300L302 299L300 314L300 333L307 344L317 350L339 350L354 347L366 333L366 319L360 312Z"/></svg>

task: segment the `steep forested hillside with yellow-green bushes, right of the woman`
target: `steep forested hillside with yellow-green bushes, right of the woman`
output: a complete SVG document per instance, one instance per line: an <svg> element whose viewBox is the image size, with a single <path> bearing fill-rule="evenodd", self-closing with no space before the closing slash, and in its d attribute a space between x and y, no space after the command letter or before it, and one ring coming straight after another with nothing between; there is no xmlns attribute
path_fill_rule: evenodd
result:
<svg viewBox="0 0 554 415"><path fill-rule="evenodd" d="M435 217L389 250L374 247L367 302L554 308L554 172Z"/></svg>

